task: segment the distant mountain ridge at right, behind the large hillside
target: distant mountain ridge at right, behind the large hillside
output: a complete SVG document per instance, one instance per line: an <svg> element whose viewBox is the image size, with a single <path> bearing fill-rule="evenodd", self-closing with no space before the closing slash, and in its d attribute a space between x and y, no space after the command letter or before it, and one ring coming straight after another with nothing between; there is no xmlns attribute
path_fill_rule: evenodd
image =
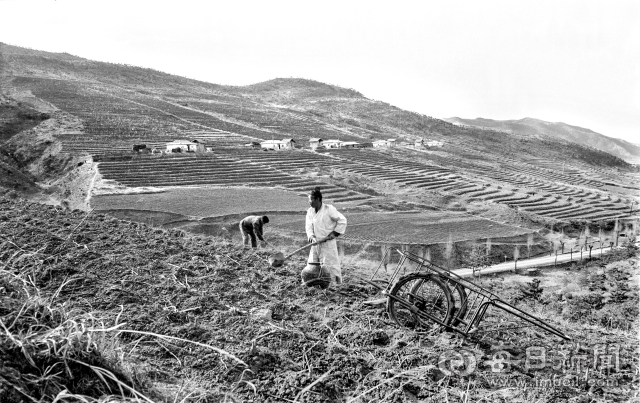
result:
<svg viewBox="0 0 640 403"><path fill-rule="evenodd" d="M630 163L640 163L640 146L621 139L607 137L590 129L572 126L562 122L546 122L544 120L533 118L524 118L520 120L492 120L484 118L462 119L453 117L443 120L453 124L483 127L527 137L547 137L566 140L607 152Z"/></svg>

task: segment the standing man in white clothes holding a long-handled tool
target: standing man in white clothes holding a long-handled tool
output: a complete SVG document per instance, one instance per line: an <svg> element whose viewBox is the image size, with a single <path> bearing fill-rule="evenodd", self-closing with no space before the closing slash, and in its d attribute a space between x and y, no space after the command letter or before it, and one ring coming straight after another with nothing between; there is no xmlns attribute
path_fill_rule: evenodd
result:
<svg viewBox="0 0 640 403"><path fill-rule="evenodd" d="M324 241L314 245L309 252L309 263L320 262L331 275L331 280L342 283L342 270L336 238L347 229L347 219L330 204L322 203L322 193L316 187L309 193L309 210L305 229L309 242Z"/></svg>

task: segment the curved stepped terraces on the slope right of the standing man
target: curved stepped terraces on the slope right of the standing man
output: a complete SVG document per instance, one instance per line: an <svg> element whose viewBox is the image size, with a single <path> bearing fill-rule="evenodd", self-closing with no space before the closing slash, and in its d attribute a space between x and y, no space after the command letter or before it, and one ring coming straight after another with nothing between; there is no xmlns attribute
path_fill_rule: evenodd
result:
<svg viewBox="0 0 640 403"><path fill-rule="evenodd" d="M482 160L467 162L469 169L463 171L452 168L453 164L444 168L420 160L409 162L397 156L400 152L393 155L375 150L339 150L331 154L342 160L334 166L347 174L389 181L401 187L451 193L468 201L507 204L549 219L611 220L628 216L631 211L630 200L604 200L607 193L596 190L602 184L580 176L554 174L549 169L535 166L523 168L523 164L517 169L513 167L514 172L520 173L490 170ZM468 171L517 187L473 181L466 173ZM541 190L545 193L537 196Z"/></svg>

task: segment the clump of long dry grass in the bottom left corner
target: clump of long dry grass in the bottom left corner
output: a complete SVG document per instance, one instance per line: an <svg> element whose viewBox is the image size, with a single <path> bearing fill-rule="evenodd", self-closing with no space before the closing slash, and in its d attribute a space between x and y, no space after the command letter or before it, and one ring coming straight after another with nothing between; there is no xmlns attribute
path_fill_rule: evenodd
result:
<svg viewBox="0 0 640 403"><path fill-rule="evenodd" d="M118 359L117 326L68 310L21 276L0 271L0 401L151 401Z"/></svg>

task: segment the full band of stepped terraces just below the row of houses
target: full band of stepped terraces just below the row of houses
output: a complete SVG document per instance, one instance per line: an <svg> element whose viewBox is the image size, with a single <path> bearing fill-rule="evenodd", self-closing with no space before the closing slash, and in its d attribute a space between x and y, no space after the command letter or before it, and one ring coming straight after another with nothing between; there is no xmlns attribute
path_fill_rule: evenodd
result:
<svg viewBox="0 0 640 403"><path fill-rule="evenodd" d="M492 171L485 176L487 182L482 182L454 167L445 168L421 160L408 161L411 154L403 155L402 152L381 153L372 149L320 153L305 150L263 152L246 147L224 147L201 155L107 160L100 163L99 169L105 179L131 187L244 185L279 186L307 192L314 186L320 186L331 202L357 202L370 198L369 195L301 175L301 172L312 168L331 168L342 172L343 176L388 182L401 189L448 193L469 202L505 204L553 220L612 220L628 216L631 212L629 199L612 199L606 192L589 187L597 182L574 180L575 184L563 184L553 176L531 176L541 168L510 177L506 172ZM478 171L478 165L475 165L473 175L477 176ZM510 183L513 187L496 185L496 180Z"/></svg>

